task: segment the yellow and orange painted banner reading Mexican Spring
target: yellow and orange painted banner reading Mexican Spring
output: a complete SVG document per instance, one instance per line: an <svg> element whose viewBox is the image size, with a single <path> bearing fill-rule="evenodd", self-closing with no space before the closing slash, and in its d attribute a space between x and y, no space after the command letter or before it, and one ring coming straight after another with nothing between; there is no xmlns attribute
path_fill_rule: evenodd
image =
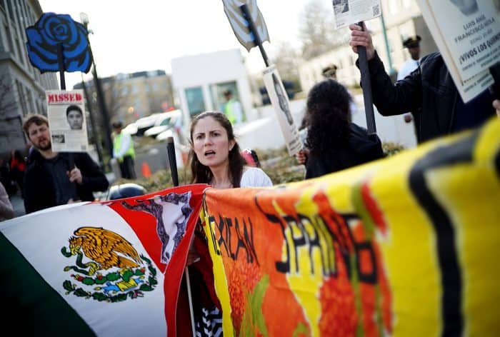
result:
<svg viewBox="0 0 500 337"><path fill-rule="evenodd" d="M500 333L500 121L273 188L209 189L226 336Z"/></svg>

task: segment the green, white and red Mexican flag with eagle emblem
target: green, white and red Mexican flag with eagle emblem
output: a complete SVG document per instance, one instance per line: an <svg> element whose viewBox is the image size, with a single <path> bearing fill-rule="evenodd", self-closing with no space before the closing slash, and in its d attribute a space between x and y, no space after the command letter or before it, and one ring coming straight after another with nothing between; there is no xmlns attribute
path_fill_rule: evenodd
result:
<svg viewBox="0 0 500 337"><path fill-rule="evenodd" d="M176 336L206 185L49 208L0 224L2 321L46 336Z"/></svg>

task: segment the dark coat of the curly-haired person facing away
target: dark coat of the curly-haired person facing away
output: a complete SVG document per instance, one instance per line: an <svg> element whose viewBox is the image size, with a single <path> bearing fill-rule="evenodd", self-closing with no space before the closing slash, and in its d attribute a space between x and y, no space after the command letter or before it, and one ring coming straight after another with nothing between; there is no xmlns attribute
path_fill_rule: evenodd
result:
<svg viewBox="0 0 500 337"><path fill-rule="evenodd" d="M379 137L369 136L366 129L351 123L348 146L341 147L336 156L325 156L311 149L306 162L306 179L349 169L384 156Z"/></svg>

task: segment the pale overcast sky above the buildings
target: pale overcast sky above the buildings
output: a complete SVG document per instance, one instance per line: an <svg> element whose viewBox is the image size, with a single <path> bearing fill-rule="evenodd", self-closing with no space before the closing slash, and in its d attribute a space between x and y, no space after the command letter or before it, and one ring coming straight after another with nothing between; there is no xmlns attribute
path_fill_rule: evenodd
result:
<svg viewBox="0 0 500 337"><path fill-rule="evenodd" d="M269 57L277 41L299 46L301 11L309 0L257 0L271 38L264 43ZM330 0L322 0L326 4ZM99 77L161 69L171 71L175 57L240 48L251 72L264 69L258 48L239 44L221 0L39 0L44 12L89 16L92 51ZM81 81L66 73L66 88ZM84 74L84 79L91 79Z"/></svg>

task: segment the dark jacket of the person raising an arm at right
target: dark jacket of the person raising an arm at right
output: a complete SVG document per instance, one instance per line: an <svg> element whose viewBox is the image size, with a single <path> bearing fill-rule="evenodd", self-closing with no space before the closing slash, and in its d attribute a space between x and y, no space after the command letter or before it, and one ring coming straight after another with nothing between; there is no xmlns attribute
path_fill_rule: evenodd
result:
<svg viewBox="0 0 500 337"><path fill-rule="evenodd" d="M359 63L356 61L356 65ZM382 116L411 111L416 121L419 143L451 134L457 104L463 104L453 79L439 53L421 59L418 69L392 84L378 54L368 62L374 104ZM491 111L487 116L494 116ZM474 113L474 111L471 111Z"/></svg>

